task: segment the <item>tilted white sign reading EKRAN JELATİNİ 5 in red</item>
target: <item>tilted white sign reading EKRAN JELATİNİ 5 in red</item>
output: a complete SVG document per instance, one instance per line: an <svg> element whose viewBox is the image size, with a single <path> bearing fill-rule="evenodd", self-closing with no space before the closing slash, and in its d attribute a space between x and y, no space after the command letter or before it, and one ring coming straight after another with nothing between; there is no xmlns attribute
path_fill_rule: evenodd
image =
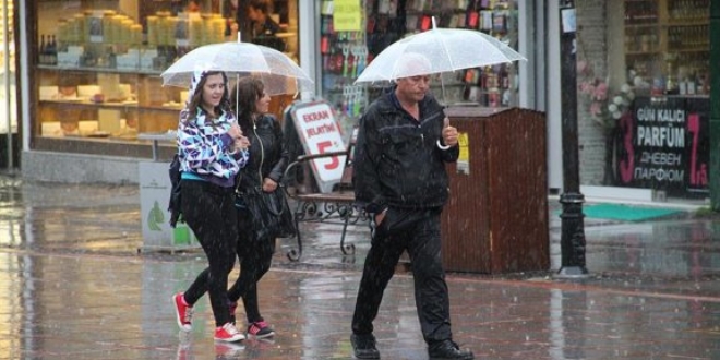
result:
<svg viewBox="0 0 720 360"><path fill-rule="evenodd" d="M340 127L327 101L299 104L290 111L292 122L302 142L305 154L344 152ZM345 156L319 158L311 161L312 170L321 191L331 191L343 178Z"/></svg>

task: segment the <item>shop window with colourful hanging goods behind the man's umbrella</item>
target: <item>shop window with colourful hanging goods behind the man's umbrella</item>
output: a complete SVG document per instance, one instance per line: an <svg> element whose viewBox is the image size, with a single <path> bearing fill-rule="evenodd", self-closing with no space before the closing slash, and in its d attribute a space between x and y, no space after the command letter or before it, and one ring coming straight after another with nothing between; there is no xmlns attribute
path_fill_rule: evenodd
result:
<svg viewBox="0 0 720 360"><path fill-rule="evenodd" d="M492 35L517 49L518 3L515 0L373 1L362 0L363 26L356 32L334 28L332 1L321 1L321 93L336 108L345 130L381 94L377 86L353 84L364 67L391 44L432 28L470 28ZM442 75L432 92L444 104L511 107L519 104L517 63L464 69ZM346 131L346 133L348 133Z"/></svg>

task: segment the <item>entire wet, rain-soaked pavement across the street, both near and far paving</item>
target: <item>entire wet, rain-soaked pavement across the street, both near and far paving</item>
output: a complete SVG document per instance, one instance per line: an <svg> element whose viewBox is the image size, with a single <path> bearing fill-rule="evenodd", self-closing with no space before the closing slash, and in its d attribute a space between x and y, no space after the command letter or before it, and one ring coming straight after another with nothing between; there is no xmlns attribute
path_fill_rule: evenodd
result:
<svg viewBox="0 0 720 360"><path fill-rule="evenodd" d="M212 339L205 299L192 333L178 332L170 296L204 255L139 253L139 204L136 187L0 177L0 359L352 358L364 228L348 233L355 255L341 254L333 225L304 225L299 263L285 256L292 240L279 240L260 283L277 335L227 346ZM448 274L455 340L478 359L720 359L719 219L588 220L585 233L590 275L581 280L552 276L554 217L550 271ZM383 359L428 359L412 293L398 268L375 321Z"/></svg>

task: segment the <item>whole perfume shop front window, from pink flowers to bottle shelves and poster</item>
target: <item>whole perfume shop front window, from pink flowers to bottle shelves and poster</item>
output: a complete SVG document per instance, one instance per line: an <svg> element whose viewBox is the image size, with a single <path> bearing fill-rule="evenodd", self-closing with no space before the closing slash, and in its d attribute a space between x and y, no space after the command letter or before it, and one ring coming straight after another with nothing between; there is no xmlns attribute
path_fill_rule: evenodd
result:
<svg viewBox="0 0 720 360"><path fill-rule="evenodd" d="M611 0L578 8L578 111L590 124L581 135L585 183L707 196L709 5ZM595 135L603 146L592 145Z"/></svg>

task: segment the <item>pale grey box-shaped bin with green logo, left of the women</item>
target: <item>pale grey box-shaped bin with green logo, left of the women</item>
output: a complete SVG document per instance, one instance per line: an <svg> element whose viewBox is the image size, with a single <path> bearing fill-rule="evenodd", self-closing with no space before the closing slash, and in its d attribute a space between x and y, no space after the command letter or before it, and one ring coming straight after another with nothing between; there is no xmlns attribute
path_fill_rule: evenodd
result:
<svg viewBox="0 0 720 360"><path fill-rule="evenodd" d="M158 142L172 142L175 134L170 133L142 133L140 140L153 141L153 160L140 161L140 212L143 228L143 247L141 252L148 251L182 251L200 249L200 243L187 224L178 223L170 226L170 176L168 169L170 161L159 159Z"/></svg>

